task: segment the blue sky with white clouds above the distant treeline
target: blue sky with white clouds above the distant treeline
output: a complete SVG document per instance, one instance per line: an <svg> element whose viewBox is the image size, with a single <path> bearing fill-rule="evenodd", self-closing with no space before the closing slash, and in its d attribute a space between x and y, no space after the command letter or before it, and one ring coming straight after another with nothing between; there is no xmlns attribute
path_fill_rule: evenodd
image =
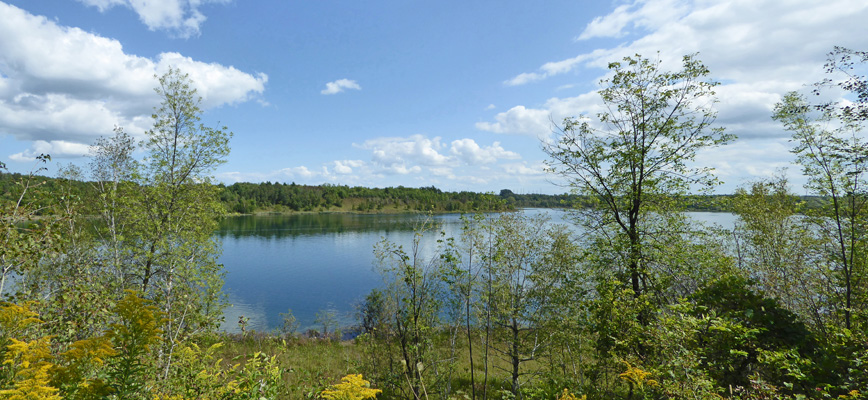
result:
<svg viewBox="0 0 868 400"><path fill-rule="evenodd" d="M608 63L698 53L738 136L696 158L715 191L803 193L774 104L868 50L865 21L864 0L0 0L0 161L51 174L115 126L141 139L171 66L234 133L226 184L564 193L542 143L600 109Z"/></svg>

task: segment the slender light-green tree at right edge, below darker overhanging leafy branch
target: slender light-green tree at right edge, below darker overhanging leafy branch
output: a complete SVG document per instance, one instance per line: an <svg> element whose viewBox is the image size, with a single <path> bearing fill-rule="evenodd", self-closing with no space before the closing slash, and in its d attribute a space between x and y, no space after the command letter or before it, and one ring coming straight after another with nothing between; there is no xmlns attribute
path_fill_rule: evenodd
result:
<svg viewBox="0 0 868 400"><path fill-rule="evenodd" d="M865 309L868 289L868 143L859 135L859 121L814 111L804 96L789 93L775 107L775 119L793 132L793 152L808 177L806 188L825 200L822 207L808 211L826 243L828 266L822 270L832 285L824 294L841 326L851 329L854 311Z"/></svg>

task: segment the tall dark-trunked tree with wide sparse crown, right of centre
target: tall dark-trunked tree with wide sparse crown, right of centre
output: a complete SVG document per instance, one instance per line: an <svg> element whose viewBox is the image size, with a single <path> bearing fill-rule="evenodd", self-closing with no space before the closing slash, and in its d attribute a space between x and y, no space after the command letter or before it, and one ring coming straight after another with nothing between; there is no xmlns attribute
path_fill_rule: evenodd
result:
<svg viewBox="0 0 868 400"><path fill-rule="evenodd" d="M623 249L621 272L637 298L652 284L643 249L649 223L680 211L674 196L713 187L711 168L690 163L734 138L711 126L717 82L696 55L684 56L680 71L660 64L640 55L610 63L599 92L604 111L596 120L565 119L544 146L550 170L591 199L582 222Z"/></svg>

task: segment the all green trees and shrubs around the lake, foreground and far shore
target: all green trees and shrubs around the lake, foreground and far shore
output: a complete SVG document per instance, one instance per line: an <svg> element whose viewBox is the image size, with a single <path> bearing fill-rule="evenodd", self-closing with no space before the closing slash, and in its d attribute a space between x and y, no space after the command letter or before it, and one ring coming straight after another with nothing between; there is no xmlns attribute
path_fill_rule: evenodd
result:
<svg viewBox="0 0 868 400"><path fill-rule="evenodd" d="M42 155L30 174L3 174L0 396L862 398L868 80L854 71L866 63L868 52L835 48L813 88L847 101L793 92L774 109L807 199L782 176L711 195L719 179L696 156L735 138L715 126L718 83L695 54L676 71L640 55L609 65L604 111L567 118L544 144L572 188L564 197L223 186L211 174L232 133L201 123L189 77L170 69L143 141L117 128L94 144L88 170L45 180ZM550 201L573 208L581 236L482 212ZM467 213L455 237L422 225L412 243L372 249L388 284L360 305L351 340L327 316L321 332L299 335L291 312L280 332L243 319L240 334L219 331L217 220L332 207ZM697 224L684 213L697 207L738 222ZM430 235L433 254L420 245Z"/></svg>

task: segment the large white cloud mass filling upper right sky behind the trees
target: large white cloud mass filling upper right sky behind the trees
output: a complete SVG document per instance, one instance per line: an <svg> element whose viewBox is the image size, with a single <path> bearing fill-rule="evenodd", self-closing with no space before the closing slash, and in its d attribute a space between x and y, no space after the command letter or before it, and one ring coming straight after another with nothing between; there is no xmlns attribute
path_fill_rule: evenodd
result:
<svg viewBox="0 0 868 400"><path fill-rule="evenodd" d="M853 34L864 28L866 18L868 3L854 0L629 0L592 20L575 38L618 38L619 44L546 62L505 83L541 82L579 68L583 73L599 71L600 79L606 76L609 62L637 53L659 58L663 69L674 70L680 67L682 56L699 53L711 77L723 82L716 89L717 126L741 138L728 148L746 146L768 152L739 158L743 160L739 166L721 160L718 171L727 176L767 176L792 160L788 147L781 145L789 133L771 120L774 104L784 93L806 91L806 84L825 78L822 66L834 46L868 46L864 36ZM542 136L551 131L551 121L580 114L594 116L600 111L599 103L599 96L589 92L549 99L543 105L515 105L476 127ZM751 144L742 145L745 141ZM765 144L769 146L762 147ZM730 153L716 150L714 154ZM768 161L772 159L777 161Z"/></svg>

